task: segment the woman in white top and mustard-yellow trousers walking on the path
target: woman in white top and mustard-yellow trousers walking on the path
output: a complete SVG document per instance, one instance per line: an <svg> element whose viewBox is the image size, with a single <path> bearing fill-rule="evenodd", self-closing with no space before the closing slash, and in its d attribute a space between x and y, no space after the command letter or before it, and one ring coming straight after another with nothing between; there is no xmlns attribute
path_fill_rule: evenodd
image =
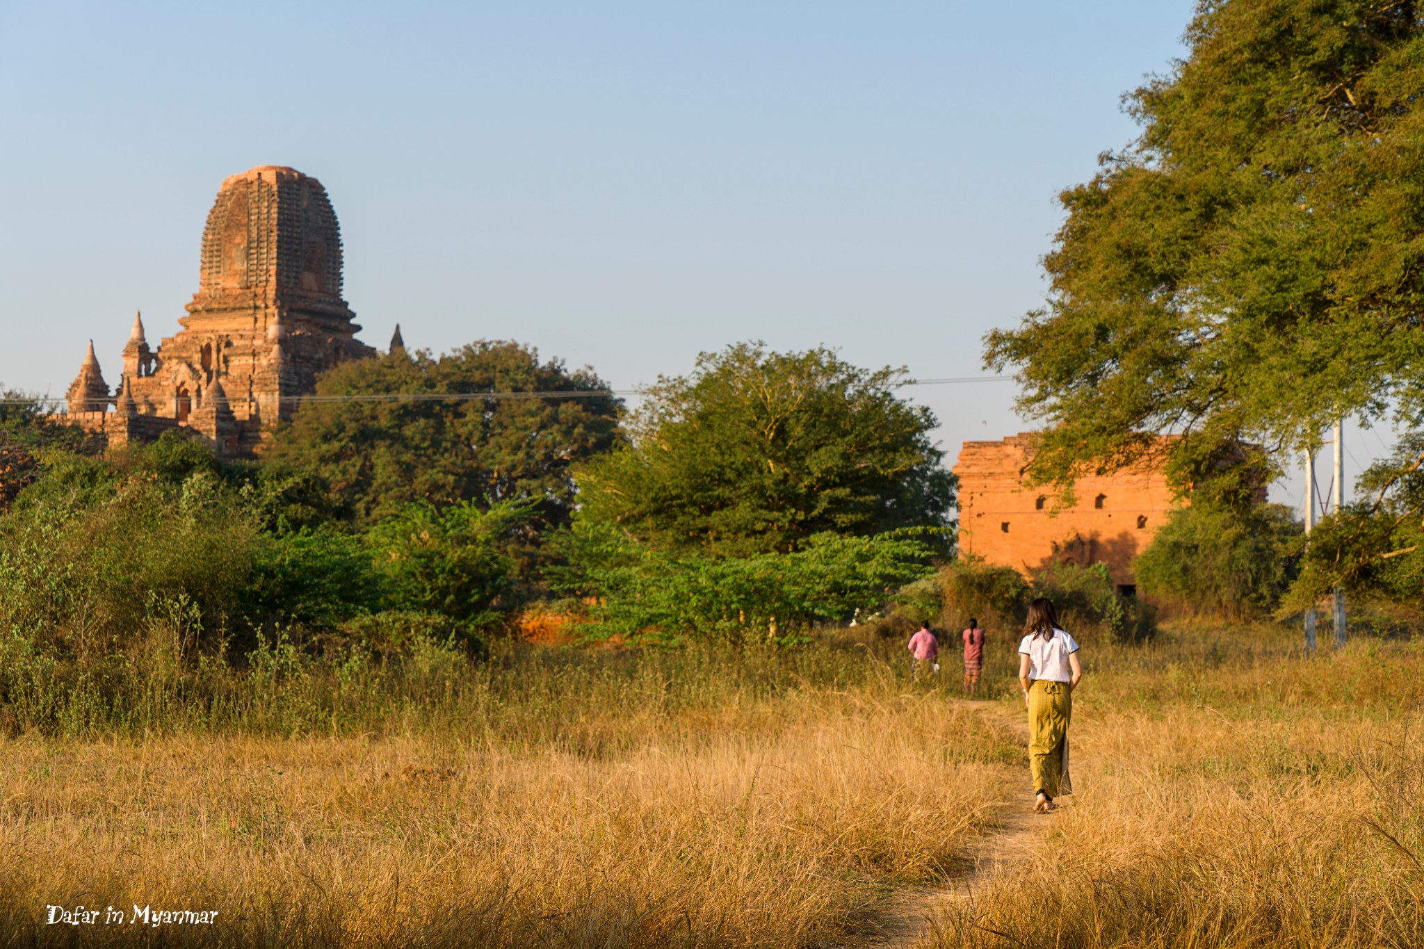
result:
<svg viewBox="0 0 1424 949"><path fill-rule="evenodd" d="M1068 723L1082 666L1078 643L1058 629L1058 613L1047 598L1028 605L1024 633L1018 645L1018 682L1028 706L1028 771L1034 778L1034 810L1047 814L1058 807L1055 797L1072 794Z"/></svg>

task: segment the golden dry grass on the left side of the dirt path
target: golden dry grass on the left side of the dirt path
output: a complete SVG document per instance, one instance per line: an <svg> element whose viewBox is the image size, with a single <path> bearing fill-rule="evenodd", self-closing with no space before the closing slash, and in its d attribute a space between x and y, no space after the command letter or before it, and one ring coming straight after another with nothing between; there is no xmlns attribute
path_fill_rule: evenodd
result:
<svg viewBox="0 0 1424 949"><path fill-rule="evenodd" d="M776 687L728 656L691 689L656 656L508 662L524 704L450 700L483 720L4 743L0 942L817 945L957 868L1021 757L864 656L849 687L806 677L844 656ZM48 926L50 903L221 922Z"/></svg>

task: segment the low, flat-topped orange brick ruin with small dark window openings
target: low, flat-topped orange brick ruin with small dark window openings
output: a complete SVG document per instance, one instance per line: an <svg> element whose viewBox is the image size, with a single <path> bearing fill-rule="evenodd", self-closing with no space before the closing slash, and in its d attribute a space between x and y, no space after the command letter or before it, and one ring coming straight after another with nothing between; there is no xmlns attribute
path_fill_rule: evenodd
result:
<svg viewBox="0 0 1424 949"><path fill-rule="evenodd" d="M1139 464L1079 478L1075 502L1057 508L1048 487L1025 488L1028 435L965 441L960 478L960 552L1030 575L1051 563L1106 563L1112 582L1134 588L1132 562L1176 507L1159 467Z"/></svg>

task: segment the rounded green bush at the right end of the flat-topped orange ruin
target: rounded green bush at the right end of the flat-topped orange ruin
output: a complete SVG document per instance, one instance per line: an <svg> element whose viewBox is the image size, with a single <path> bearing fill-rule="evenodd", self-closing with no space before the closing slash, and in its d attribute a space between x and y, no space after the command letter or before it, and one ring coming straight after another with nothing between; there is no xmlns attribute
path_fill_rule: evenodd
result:
<svg viewBox="0 0 1424 949"><path fill-rule="evenodd" d="M1138 558L1138 589L1193 612L1263 616L1296 575L1302 525L1279 504L1178 508Z"/></svg>

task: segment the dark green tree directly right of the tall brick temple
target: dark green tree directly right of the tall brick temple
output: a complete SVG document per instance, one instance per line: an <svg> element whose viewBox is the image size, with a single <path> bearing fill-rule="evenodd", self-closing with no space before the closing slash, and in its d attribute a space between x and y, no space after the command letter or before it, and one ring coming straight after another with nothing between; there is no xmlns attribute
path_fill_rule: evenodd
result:
<svg viewBox="0 0 1424 949"><path fill-rule="evenodd" d="M574 507L570 467L617 440L619 401L591 394L605 390L518 343L397 350L323 374L269 457L320 475L360 522L417 501L508 501L528 502L528 526L544 529Z"/></svg>

